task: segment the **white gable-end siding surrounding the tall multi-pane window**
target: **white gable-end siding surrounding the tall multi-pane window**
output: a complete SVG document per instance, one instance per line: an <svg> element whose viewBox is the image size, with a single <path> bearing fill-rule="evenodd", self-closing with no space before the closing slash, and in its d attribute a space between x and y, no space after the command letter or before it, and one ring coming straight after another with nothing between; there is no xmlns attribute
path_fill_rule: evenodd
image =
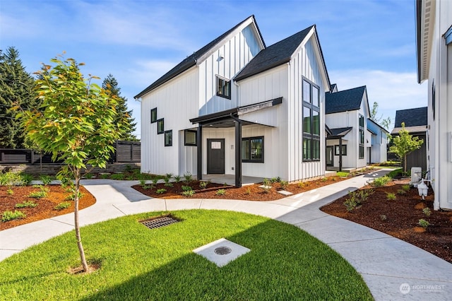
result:
<svg viewBox="0 0 452 301"><path fill-rule="evenodd" d="M329 90L323 82L321 57L316 51L316 39L311 35L309 40L292 56L288 68L289 107L288 107L288 147L287 166L289 179L309 179L325 175L325 92ZM303 77L319 86L320 94L320 160L303 162Z"/></svg>

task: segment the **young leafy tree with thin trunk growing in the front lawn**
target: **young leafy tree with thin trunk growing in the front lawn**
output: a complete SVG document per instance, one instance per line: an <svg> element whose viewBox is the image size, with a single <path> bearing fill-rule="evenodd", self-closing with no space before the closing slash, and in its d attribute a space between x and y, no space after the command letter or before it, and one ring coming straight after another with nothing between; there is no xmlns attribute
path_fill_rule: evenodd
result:
<svg viewBox="0 0 452 301"><path fill-rule="evenodd" d="M18 114L30 140L53 159L64 160L58 173L71 186L74 199L76 240L83 271L88 271L78 220L80 180L93 167L105 167L113 143L124 134L126 124L116 122L117 97L85 78L74 59L54 58L43 64L36 81L40 110ZM91 167L89 167L91 165Z"/></svg>

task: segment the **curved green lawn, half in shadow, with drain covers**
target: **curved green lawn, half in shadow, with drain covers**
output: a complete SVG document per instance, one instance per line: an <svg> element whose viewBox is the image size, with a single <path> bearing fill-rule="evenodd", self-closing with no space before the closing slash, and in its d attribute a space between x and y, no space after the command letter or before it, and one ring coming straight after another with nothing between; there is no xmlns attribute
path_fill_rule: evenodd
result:
<svg viewBox="0 0 452 301"><path fill-rule="evenodd" d="M361 276L295 226L230 211L174 211L182 223L149 230L126 216L82 228L89 261L78 266L73 232L0 262L1 300L371 300ZM218 268L193 249L225 237L251 249ZM4 298L4 299L2 299Z"/></svg>

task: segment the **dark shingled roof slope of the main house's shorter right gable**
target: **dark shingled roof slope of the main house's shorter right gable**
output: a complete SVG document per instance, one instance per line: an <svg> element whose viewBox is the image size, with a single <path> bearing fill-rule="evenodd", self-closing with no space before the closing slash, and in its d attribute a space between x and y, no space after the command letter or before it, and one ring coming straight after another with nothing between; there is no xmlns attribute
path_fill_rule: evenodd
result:
<svg viewBox="0 0 452 301"><path fill-rule="evenodd" d="M239 72L239 74L237 74L234 80L241 81L249 76L254 76L257 73L287 63L287 61L290 61L290 57L302 43L311 28L314 27L315 25L312 25L299 33L295 33L295 35L291 35L290 37L263 49L244 67L244 69L242 69L242 71Z"/></svg>

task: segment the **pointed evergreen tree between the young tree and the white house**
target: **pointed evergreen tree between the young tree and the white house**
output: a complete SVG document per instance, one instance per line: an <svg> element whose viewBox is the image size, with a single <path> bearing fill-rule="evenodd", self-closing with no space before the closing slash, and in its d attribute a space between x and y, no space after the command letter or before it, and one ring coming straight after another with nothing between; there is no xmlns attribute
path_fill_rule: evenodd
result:
<svg viewBox="0 0 452 301"><path fill-rule="evenodd" d="M117 117L116 123L126 124L127 128L125 134L119 139L124 141L138 141L135 135L132 134L135 131L136 122L132 117L132 110L127 110L127 99L121 96L121 88L118 86L118 81L112 74L109 74L102 83L102 88L109 90L110 93L118 98L118 104L116 106Z"/></svg>

